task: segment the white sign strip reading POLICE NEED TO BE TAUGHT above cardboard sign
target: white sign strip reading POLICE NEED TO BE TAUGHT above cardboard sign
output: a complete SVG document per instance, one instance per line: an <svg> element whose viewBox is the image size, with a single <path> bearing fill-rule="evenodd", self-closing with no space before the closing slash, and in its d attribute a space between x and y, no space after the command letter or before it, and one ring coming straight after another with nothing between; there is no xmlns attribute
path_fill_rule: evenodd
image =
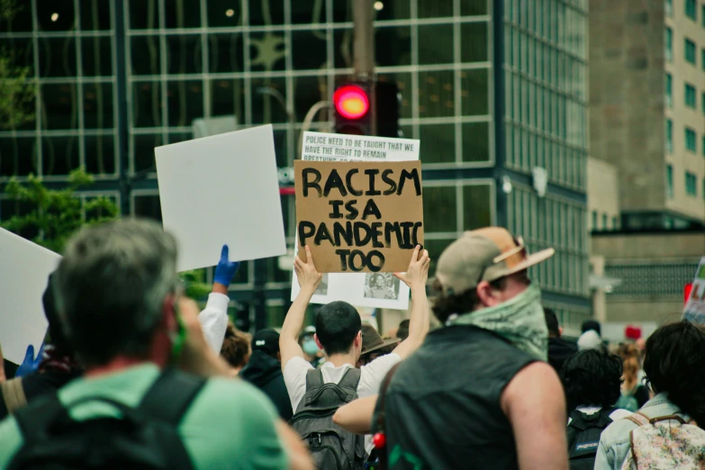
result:
<svg viewBox="0 0 705 470"><path fill-rule="evenodd" d="M419 140L304 132L302 159L309 161L418 160Z"/></svg>

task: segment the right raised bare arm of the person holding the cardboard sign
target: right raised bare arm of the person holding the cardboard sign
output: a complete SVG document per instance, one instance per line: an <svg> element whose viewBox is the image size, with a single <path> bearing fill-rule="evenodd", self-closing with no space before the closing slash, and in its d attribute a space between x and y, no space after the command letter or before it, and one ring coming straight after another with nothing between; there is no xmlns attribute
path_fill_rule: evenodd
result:
<svg viewBox="0 0 705 470"><path fill-rule="evenodd" d="M411 263L405 274L394 273L411 288L411 317L409 319L409 338L394 348L394 353L402 359L411 356L420 347L429 333L429 299L426 296L426 281L429 279L429 252L423 250L419 258L420 247L417 245L411 255Z"/></svg>

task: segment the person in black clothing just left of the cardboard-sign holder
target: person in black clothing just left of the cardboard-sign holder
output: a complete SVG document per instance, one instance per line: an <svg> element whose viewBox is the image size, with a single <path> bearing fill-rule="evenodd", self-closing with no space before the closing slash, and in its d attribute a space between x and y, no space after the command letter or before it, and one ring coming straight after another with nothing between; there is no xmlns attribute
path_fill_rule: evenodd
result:
<svg viewBox="0 0 705 470"><path fill-rule="evenodd" d="M252 338L252 355L240 371L240 377L255 385L274 402L282 420L292 419L292 402L282 375L282 357L279 354L279 333L259 330Z"/></svg>

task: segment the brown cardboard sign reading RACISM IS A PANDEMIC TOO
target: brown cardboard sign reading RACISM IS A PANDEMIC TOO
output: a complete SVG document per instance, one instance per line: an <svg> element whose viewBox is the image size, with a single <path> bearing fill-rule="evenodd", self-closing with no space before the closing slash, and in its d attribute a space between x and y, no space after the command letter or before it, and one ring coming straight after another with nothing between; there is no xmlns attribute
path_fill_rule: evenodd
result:
<svg viewBox="0 0 705 470"><path fill-rule="evenodd" d="M299 244L311 246L319 272L406 270L423 243L419 161L298 160L294 174Z"/></svg>

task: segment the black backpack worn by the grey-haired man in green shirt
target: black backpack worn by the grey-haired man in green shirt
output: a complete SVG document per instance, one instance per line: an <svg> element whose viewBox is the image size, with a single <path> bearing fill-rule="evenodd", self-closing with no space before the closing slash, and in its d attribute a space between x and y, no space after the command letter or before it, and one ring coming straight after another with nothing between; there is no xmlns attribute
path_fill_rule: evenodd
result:
<svg viewBox="0 0 705 470"><path fill-rule="evenodd" d="M68 405L56 393L41 396L14 414L24 443L7 468L190 470L177 427L204 383L167 369L137 408L99 396ZM108 403L122 418L73 420L68 410L85 402Z"/></svg>

